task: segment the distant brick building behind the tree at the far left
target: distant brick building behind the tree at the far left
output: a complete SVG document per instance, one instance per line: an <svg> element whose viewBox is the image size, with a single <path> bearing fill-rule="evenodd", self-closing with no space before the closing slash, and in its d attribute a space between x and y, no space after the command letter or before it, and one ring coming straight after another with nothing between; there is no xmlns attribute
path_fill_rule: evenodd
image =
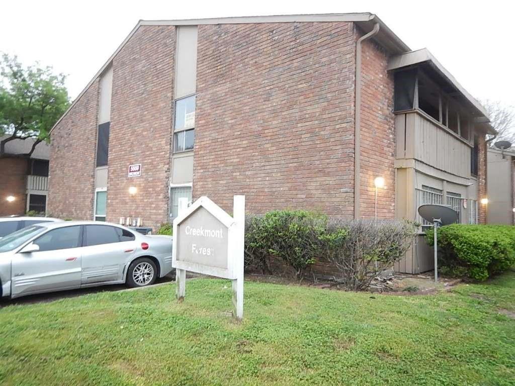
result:
<svg viewBox="0 0 515 386"><path fill-rule="evenodd" d="M0 136L0 142L7 138L9 135ZM0 216L46 211L50 146L39 143L27 156L33 144L32 138L13 139L5 144L0 157Z"/></svg>

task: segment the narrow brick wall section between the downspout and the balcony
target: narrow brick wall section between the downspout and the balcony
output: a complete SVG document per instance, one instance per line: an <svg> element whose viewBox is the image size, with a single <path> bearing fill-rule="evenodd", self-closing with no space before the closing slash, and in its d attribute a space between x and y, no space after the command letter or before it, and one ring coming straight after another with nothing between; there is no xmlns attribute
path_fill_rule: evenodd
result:
<svg viewBox="0 0 515 386"><path fill-rule="evenodd" d="M363 34L356 30L356 41ZM388 54L373 40L362 43L361 198L362 218L374 218L374 179L384 177L377 189L377 218L394 218L395 122L393 74L387 73Z"/></svg>

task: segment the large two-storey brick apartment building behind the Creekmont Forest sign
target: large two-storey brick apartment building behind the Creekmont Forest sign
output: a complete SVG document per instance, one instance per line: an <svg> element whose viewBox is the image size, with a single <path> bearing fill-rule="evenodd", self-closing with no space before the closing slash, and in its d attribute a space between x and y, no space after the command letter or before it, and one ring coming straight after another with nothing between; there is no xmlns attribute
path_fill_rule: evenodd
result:
<svg viewBox="0 0 515 386"><path fill-rule="evenodd" d="M484 222L487 133L485 109L374 14L140 21L52 131L49 213L155 229L179 197L244 194L249 213L374 218L384 177L378 218L433 202ZM397 269L430 269L424 248Z"/></svg>

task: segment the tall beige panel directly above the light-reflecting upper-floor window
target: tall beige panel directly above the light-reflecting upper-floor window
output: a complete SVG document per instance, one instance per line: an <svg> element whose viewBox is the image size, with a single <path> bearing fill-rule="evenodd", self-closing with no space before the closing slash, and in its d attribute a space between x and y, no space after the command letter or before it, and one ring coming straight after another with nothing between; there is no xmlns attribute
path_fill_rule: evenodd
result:
<svg viewBox="0 0 515 386"><path fill-rule="evenodd" d="M197 26L177 27L175 98L197 89Z"/></svg>

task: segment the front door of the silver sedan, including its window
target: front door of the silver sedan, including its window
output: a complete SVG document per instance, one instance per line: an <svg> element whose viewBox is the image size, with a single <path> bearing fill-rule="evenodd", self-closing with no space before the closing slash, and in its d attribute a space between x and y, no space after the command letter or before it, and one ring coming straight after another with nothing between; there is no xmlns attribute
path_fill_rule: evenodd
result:
<svg viewBox="0 0 515 386"><path fill-rule="evenodd" d="M80 287L80 225L50 229L33 241L39 251L14 254L11 296Z"/></svg>

